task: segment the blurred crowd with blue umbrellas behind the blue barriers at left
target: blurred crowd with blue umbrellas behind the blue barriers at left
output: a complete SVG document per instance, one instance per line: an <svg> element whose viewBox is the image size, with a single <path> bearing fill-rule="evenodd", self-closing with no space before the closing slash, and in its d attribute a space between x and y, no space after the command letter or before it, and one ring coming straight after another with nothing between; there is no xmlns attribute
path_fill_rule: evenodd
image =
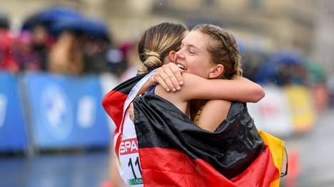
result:
<svg viewBox="0 0 334 187"><path fill-rule="evenodd" d="M116 48L103 22L73 18L71 9L54 8L26 19L19 33L9 18L0 18L0 70L46 71L64 75L103 72L118 78L127 68L133 45ZM63 15L64 14L64 15ZM69 15L67 15L69 14Z"/></svg>

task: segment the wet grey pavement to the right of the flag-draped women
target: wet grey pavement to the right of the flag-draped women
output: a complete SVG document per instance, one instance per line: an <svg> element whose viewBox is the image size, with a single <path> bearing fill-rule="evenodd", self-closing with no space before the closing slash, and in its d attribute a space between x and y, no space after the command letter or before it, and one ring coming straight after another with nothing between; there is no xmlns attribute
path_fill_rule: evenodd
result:
<svg viewBox="0 0 334 187"><path fill-rule="evenodd" d="M295 166L289 169L292 172L289 175L296 174L295 185L289 182L285 186L334 186L334 108L319 114L312 131L285 139L285 145L288 151L298 153L299 156L299 169ZM284 181L289 181L289 177L284 178Z"/></svg>

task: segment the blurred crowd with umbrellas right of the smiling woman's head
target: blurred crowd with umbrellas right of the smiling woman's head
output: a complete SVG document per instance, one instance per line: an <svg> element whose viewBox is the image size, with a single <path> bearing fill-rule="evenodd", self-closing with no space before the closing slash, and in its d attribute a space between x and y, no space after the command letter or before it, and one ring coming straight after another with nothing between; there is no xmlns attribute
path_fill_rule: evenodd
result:
<svg viewBox="0 0 334 187"><path fill-rule="evenodd" d="M265 53L261 50L245 49L243 76L260 85L308 87L318 111L328 107L328 104L334 104L334 95L328 90L325 70L315 61L293 51Z"/></svg>

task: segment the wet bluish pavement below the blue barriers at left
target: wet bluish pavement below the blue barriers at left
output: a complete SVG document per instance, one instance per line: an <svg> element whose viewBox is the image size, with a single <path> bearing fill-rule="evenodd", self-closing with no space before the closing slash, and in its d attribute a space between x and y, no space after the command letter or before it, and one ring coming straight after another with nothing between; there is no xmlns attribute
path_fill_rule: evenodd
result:
<svg viewBox="0 0 334 187"><path fill-rule="evenodd" d="M100 186L108 176L108 151L0 158L0 186Z"/></svg>

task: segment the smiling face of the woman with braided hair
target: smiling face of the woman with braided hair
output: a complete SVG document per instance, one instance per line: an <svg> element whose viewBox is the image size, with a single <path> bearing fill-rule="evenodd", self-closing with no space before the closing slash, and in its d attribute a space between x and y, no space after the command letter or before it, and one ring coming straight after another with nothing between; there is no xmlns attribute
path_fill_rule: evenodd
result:
<svg viewBox="0 0 334 187"><path fill-rule="evenodd" d="M209 78L209 74L216 66L211 63L208 53L208 43L212 43L210 36L201 31L191 31L183 38L181 50L175 54L175 63L186 73Z"/></svg>

